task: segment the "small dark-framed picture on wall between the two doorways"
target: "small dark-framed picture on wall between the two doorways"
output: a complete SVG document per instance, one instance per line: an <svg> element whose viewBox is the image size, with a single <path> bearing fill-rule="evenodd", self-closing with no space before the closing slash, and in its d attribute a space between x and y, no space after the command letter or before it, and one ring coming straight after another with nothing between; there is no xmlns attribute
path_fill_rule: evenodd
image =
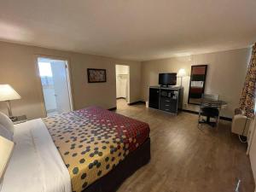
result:
<svg viewBox="0 0 256 192"><path fill-rule="evenodd" d="M87 68L88 83L107 82L106 69Z"/></svg>

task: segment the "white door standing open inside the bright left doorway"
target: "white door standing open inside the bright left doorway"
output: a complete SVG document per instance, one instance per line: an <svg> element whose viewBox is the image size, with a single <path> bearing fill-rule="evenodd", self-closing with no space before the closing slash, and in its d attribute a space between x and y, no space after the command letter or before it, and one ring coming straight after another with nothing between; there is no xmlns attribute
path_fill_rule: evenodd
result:
<svg viewBox="0 0 256 192"><path fill-rule="evenodd" d="M66 61L50 61L54 89L56 109L58 113L71 111L69 90L67 83L67 64Z"/></svg>

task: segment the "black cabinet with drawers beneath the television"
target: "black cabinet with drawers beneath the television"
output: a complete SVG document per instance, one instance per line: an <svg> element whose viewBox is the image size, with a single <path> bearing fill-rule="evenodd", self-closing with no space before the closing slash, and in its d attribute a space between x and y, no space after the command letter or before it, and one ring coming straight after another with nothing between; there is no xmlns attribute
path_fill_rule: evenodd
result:
<svg viewBox="0 0 256 192"><path fill-rule="evenodd" d="M150 86L148 108L159 109L167 113L177 114L183 105L183 87Z"/></svg>

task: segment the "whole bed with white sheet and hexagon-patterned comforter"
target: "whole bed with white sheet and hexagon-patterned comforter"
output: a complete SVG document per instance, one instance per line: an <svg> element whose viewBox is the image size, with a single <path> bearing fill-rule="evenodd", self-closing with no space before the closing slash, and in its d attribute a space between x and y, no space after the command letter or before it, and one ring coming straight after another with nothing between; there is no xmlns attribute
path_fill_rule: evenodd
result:
<svg viewBox="0 0 256 192"><path fill-rule="evenodd" d="M96 107L15 125L1 192L106 191L150 159L149 127Z"/></svg>

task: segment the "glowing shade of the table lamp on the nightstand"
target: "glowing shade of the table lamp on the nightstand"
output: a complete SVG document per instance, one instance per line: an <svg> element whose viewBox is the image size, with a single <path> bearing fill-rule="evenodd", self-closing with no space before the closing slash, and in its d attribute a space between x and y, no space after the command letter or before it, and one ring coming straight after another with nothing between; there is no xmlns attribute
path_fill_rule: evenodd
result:
<svg viewBox="0 0 256 192"><path fill-rule="evenodd" d="M9 84L0 84L0 102L20 98L20 95Z"/></svg>

